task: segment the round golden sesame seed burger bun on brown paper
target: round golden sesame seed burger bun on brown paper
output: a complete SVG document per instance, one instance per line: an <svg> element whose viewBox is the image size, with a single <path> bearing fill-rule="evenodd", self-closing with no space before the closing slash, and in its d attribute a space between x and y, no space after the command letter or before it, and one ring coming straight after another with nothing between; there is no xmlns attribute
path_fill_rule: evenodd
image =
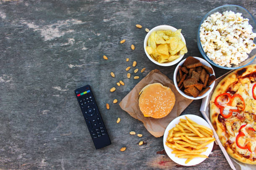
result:
<svg viewBox="0 0 256 170"><path fill-rule="evenodd" d="M165 117L172 111L175 103L172 90L160 83L146 85L139 95L139 107L145 117Z"/></svg>

